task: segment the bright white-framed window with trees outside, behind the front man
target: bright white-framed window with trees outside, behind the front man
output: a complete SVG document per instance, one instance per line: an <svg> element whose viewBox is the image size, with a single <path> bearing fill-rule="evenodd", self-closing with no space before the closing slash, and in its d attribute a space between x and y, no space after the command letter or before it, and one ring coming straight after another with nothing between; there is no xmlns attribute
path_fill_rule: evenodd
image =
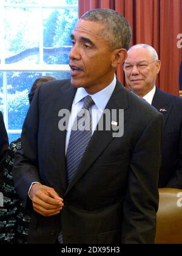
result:
<svg viewBox="0 0 182 256"><path fill-rule="evenodd" d="M78 0L1 0L0 13L0 110L13 141L20 137L34 80L70 77Z"/></svg>

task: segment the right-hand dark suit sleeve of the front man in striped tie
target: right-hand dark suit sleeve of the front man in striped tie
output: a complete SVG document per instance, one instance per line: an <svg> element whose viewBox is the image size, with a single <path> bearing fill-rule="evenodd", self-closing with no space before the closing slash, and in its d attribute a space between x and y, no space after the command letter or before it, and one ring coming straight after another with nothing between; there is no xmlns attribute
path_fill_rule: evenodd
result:
<svg viewBox="0 0 182 256"><path fill-rule="evenodd" d="M154 243L162 130L163 117L156 113L144 128L132 152L123 208L124 244Z"/></svg>

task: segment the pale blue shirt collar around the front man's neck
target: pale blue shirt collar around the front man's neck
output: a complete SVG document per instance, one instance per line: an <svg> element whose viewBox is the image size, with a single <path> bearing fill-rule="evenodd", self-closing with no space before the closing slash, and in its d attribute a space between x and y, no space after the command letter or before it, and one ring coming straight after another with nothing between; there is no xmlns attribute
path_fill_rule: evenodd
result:
<svg viewBox="0 0 182 256"><path fill-rule="evenodd" d="M75 99L73 101L73 104L77 104L79 101L81 101L83 98L85 98L87 95L90 95L95 102L96 107L101 110L101 112L104 111L107 102L110 99L110 96L113 93L113 90L115 89L116 86L116 76L114 76L112 82L103 90L98 91L98 93L95 94L89 94L87 91L81 87L78 88L75 94Z"/></svg>

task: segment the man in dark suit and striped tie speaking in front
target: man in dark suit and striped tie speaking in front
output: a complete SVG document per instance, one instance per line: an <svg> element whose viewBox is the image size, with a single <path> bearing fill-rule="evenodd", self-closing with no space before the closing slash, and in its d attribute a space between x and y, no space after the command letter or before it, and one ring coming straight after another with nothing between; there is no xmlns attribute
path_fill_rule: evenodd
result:
<svg viewBox="0 0 182 256"><path fill-rule="evenodd" d="M85 13L71 36L71 79L35 93L14 168L33 205L29 243L154 241L163 117L116 80L130 37L119 13Z"/></svg>

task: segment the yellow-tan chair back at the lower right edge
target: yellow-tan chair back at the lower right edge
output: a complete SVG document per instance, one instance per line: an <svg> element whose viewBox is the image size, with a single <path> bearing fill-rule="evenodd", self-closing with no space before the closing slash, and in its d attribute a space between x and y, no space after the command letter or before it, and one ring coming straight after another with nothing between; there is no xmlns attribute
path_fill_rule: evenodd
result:
<svg viewBox="0 0 182 256"><path fill-rule="evenodd" d="M155 244L182 244L182 190L160 188Z"/></svg>

